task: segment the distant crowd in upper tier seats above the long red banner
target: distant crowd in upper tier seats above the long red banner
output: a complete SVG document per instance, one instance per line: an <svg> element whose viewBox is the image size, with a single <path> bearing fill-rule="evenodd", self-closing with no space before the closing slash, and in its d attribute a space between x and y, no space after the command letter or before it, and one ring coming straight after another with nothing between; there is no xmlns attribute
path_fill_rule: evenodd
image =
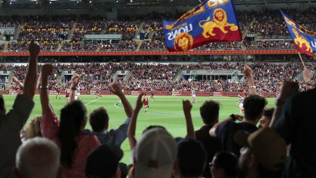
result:
<svg viewBox="0 0 316 178"><path fill-rule="evenodd" d="M311 7L304 11L283 9L298 24L310 31L316 31L314 13ZM295 49L279 10L263 9L254 11L237 11L242 34L254 34L259 40L229 43L210 43L195 50L241 50L245 49ZM143 16L119 17L109 20L104 17L88 16L27 16L3 17L2 24L21 25L16 41L11 41L8 52L27 51L27 44L33 38L40 42L42 51L165 51L167 50L161 19L177 18L170 13L152 12ZM253 22L253 23L251 23ZM141 26L142 24L142 26ZM149 39L137 36L146 31ZM64 33L67 35L64 36ZM119 34L121 40L111 44L101 43L89 45L85 35ZM281 40L280 40L281 39ZM140 42L141 40L141 42ZM0 44L0 51L3 50ZM60 47L58 48L58 45Z"/></svg>

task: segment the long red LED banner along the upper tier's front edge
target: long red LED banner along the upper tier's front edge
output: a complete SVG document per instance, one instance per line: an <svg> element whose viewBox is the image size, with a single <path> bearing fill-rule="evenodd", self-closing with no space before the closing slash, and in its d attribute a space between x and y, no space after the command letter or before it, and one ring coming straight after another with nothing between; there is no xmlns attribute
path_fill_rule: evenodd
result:
<svg viewBox="0 0 316 178"><path fill-rule="evenodd" d="M238 54L297 54L297 50L247 50L247 51L113 51L113 52L40 52L41 56L52 55L238 55ZM27 56L28 52L1 52L0 56Z"/></svg>

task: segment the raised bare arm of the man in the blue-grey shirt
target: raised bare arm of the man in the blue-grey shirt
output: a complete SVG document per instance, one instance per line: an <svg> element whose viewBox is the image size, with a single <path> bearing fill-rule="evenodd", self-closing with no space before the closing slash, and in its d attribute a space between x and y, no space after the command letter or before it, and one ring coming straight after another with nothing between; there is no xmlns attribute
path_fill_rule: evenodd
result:
<svg viewBox="0 0 316 178"><path fill-rule="evenodd" d="M126 116L128 118L132 117L132 113L133 113L133 107L131 106L131 104L127 101L124 93L122 92L122 87L120 86L119 83L117 82L113 82L110 84L110 87L112 87L112 89L110 89L110 91L114 94L116 94L122 101Z"/></svg>

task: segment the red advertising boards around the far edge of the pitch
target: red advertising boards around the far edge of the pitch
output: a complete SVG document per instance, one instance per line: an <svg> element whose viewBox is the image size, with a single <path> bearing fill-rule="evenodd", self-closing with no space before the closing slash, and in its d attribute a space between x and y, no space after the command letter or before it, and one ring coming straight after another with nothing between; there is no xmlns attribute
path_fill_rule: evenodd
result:
<svg viewBox="0 0 316 178"><path fill-rule="evenodd" d="M1 94L22 94L21 90L0 90ZM150 91L142 91L142 90L135 90L135 91L124 91L125 95L140 95L140 93L146 93L147 95L150 95ZM38 94L36 91L35 94ZM56 95L57 92L54 90L50 90L51 95ZM61 95L65 95L65 91L60 92ZM95 90L81 90L81 95L95 95ZM115 95L109 90L102 90L100 92L101 95ZM196 96L228 96L228 97L237 97L238 94L243 95L244 92L233 92L233 91L196 91ZM154 95L156 96L172 96L172 91L154 91ZM175 91L174 95L176 96L191 96L191 91ZM275 98L276 93L275 92L262 92L261 95L265 98Z"/></svg>

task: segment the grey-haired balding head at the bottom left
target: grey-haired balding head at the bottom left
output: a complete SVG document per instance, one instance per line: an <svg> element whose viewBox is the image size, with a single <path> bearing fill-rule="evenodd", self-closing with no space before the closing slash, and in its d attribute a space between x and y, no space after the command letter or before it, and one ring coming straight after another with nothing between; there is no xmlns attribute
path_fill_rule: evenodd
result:
<svg viewBox="0 0 316 178"><path fill-rule="evenodd" d="M59 158L60 150L54 142L35 137L18 148L14 173L17 178L57 178Z"/></svg>

